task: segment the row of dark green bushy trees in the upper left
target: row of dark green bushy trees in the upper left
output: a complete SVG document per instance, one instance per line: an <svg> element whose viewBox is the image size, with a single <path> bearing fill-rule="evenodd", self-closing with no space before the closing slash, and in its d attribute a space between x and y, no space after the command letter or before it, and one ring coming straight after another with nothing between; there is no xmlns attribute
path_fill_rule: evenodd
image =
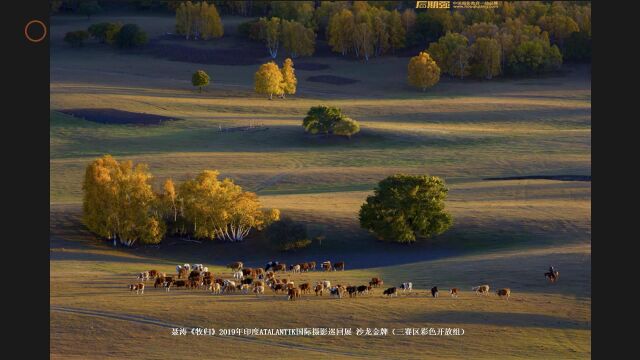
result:
<svg viewBox="0 0 640 360"><path fill-rule="evenodd" d="M89 37L122 49L142 46L148 41L147 34L136 24L109 22L92 24L87 31L70 31L65 34L64 41L73 47L81 47Z"/></svg>

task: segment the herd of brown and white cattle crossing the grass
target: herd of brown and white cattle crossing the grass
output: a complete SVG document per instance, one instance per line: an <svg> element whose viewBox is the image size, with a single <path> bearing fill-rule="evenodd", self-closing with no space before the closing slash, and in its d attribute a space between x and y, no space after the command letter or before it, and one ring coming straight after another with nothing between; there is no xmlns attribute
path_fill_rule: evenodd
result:
<svg viewBox="0 0 640 360"><path fill-rule="evenodd" d="M356 297L359 295L373 294L374 288L380 288L384 285L384 281L379 277L372 278L368 285L346 286L341 284L332 286L329 280L318 281L315 284L309 282L296 284L293 280L286 277L287 274L315 271L315 261L290 265L288 267L286 264L279 263L278 261L270 261L264 268L245 268L244 264L238 261L227 265L227 267L233 272L233 279L215 277L209 269L202 264L177 265L176 275L171 276L156 270L143 271L138 274L138 282L129 285L129 290L131 292L135 291L136 294L144 294L145 282L153 280L154 288L163 288L167 292L170 291L171 288L185 288L207 290L213 294L254 293L261 295L269 288L275 294L286 294L287 299L296 300L300 298L302 294L311 294L312 291L315 292L316 296L322 296L326 292L330 296L337 298L345 296ZM344 270L345 266L344 262L331 264L330 261L325 261L320 264L320 267L324 271L336 271ZM488 295L489 285L476 286L471 290L476 294ZM413 291L413 284L411 282L404 282L399 286L387 288L382 294L388 297L397 297L400 291L410 293ZM437 286L431 288L432 297L438 297L438 292ZM460 289L458 288L449 289L449 294L452 297L458 297L459 292ZM508 288L499 289L496 293L499 297L504 297L509 300L511 290Z"/></svg>

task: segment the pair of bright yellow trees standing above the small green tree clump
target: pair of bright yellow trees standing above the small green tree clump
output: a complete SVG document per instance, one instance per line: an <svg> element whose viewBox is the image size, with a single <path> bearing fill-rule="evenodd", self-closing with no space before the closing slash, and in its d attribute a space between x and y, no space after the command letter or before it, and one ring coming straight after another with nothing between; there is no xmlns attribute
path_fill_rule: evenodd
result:
<svg viewBox="0 0 640 360"><path fill-rule="evenodd" d="M256 93L269 95L269 100L273 99L273 95L285 98L286 95L295 94L297 85L298 79L293 68L293 60L289 58L284 60L282 69L271 61L260 65L254 75Z"/></svg>

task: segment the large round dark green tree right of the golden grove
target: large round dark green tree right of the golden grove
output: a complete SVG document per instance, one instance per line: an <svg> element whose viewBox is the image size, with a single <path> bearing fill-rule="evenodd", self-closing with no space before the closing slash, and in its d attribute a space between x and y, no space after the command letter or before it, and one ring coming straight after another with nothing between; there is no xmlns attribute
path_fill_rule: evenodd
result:
<svg viewBox="0 0 640 360"><path fill-rule="evenodd" d="M360 208L360 226L380 240L399 243L440 235L453 223L444 204L447 192L437 176L390 176Z"/></svg>

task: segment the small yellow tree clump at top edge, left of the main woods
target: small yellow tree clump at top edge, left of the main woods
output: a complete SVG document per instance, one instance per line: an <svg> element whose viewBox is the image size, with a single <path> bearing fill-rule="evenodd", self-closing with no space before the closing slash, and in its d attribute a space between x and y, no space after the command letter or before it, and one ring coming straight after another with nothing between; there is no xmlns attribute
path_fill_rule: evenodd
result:
<svg viewBox="0 0 640 360"><path fill-rule="evenodd" d="M222 37L224 27L214 4L185 1L176 9L176 32L187 40L208 40Z"/></svg>

